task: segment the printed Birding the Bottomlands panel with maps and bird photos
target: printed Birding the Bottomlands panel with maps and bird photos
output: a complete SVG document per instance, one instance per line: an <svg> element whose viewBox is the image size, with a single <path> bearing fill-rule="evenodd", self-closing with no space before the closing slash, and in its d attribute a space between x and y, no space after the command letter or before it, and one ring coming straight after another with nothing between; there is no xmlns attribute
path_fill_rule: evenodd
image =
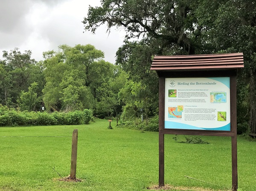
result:
<svg viewBox="0 0 256 191"><path fill-rule="evenodd" d="M230 77L165 79L164 128L230 131Z"/></svg>

